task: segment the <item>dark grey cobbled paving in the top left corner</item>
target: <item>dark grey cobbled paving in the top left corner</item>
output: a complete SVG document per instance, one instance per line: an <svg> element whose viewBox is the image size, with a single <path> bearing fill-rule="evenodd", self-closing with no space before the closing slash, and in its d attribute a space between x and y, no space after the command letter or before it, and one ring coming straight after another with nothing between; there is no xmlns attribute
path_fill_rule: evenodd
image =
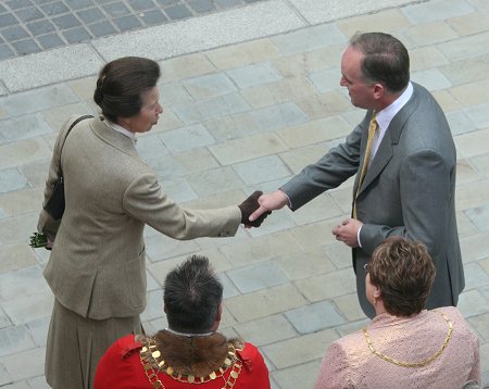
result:
<svg viewBox="0 0 489 389"><path fill-rule="evenodd" d="M0 60L171 23L263 0L8 0Z"/></svg>

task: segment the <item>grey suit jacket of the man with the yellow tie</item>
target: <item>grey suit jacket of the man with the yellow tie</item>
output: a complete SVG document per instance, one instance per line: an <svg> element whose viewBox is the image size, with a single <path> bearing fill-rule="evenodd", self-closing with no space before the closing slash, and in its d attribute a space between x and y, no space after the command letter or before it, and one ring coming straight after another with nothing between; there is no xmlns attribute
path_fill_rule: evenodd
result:
<svg viewBox="0 0 489 389"><path fill-rule="evenodd" d="M374 311L365 299L362 267L390 236L427 246L437 271L428 309L455 305L465 285L455 219L455 147L436 100L422 86L413 86L413 96L391 121L356 200L358 218L364 225L362 248L352 251L353 267L359 300L369 316ZM361 172L371 116L368 111L343 143L281 187L292 210ZM353 193L358 183L359 174Z"/></svg>

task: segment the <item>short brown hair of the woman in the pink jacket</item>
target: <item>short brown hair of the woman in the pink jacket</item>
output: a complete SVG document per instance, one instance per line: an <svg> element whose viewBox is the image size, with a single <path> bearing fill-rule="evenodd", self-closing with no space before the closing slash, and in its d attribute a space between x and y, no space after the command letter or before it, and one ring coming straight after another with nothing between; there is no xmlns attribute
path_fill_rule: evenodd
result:
<svg viewBox="0 0 489 389"><path fill-rule="evenodd" d="M411 316L426 306L435 265L423 243L396 237L375 249L368 274L371 283L380 289L386 311L394 316Z"/></svg>

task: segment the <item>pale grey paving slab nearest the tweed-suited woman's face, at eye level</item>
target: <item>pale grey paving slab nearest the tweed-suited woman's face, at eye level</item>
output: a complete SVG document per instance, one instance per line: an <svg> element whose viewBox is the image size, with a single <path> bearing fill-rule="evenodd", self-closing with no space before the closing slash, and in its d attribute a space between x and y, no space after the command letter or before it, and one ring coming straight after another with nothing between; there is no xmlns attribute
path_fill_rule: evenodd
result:
<svg viewBox="0 0 489 389"><path fill-rule="evenodd" d="M248 111L250 105L238 93L228 93L192 103L172 106L175 114L185 123L208 121Z"/></svg>

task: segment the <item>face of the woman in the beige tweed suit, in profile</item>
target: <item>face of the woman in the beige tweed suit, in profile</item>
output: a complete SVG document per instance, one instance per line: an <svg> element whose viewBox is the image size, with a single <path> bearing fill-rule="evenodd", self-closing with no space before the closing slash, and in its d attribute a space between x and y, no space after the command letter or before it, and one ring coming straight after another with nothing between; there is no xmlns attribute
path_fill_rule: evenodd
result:
<svg viewBox="0 0 489 389"><path fill-rule="evenodd" d="M160 92L158 87L151 88L141 96L141 110L136 116L126 117L124 122L127 129L133 133L147 133L158 123L163 108L160 105Z"/></svg>

